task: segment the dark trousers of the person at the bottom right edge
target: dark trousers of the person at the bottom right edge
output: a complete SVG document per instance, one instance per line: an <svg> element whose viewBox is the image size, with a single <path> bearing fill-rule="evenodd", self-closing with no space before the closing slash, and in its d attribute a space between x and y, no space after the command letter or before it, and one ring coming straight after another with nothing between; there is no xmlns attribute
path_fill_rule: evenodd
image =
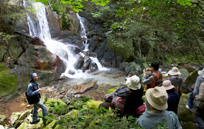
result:
<svg viewBox="0 0 204 129"><path fill-rule="evenodd" d="M195 119L196 122L198 123L198 129L204 129L204 111L203 109L197 109L195 113Z"/></svg>

